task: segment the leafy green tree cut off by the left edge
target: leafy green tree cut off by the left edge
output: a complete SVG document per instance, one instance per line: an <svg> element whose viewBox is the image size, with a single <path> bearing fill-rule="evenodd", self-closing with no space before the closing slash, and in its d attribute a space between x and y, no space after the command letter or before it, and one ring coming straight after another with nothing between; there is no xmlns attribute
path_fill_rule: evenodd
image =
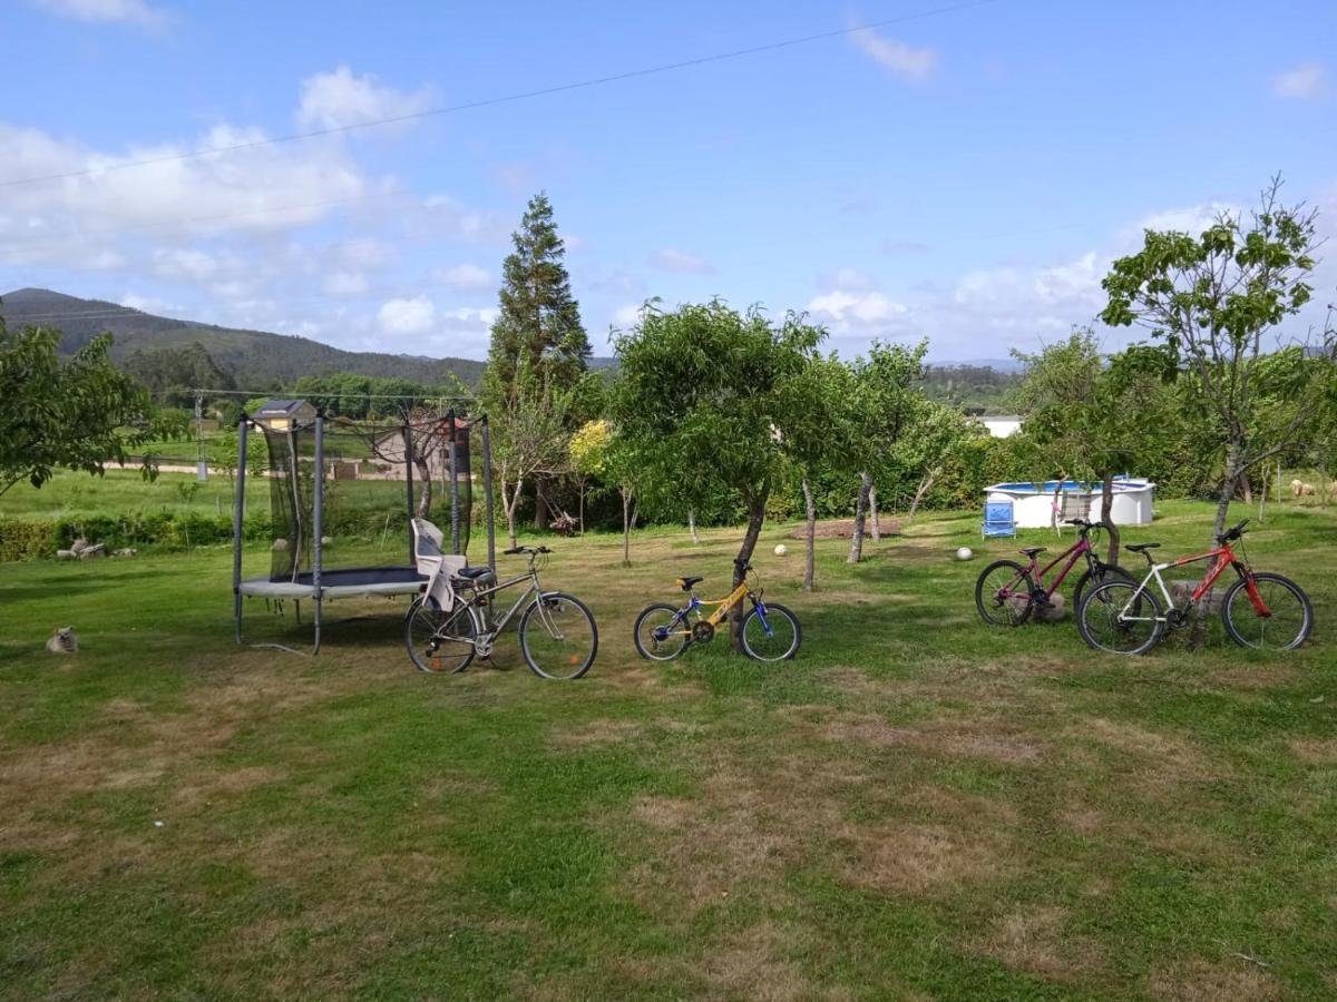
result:
<svg viewBox="0 0 1337 1002"><path fill-rule="evenodd" d="M100 334L62 361L60 333L11 333L0 318L0 494L21 480L40 488L57 468L102 476L127 449L183 433L156 420L148 393L108 358ZM152 457L140 470L158 476Z"/></svg>

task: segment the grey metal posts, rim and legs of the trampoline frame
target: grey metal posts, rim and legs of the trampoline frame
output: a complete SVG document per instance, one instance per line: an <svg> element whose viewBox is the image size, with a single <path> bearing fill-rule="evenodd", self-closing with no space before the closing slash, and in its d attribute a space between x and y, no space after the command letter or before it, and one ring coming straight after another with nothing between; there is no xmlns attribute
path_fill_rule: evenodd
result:
<svg viewBox="0 0 1337 1002"><path fill-rule="evenodd" d="M460 485L457 480L457 457L455 444L455 411L447 413L451 422L449 436L449 470L451 470L451 541L453 548L460 548ZM469 424L477 424L483 440L483 492L487 506L488 528L488 566L496 573L496 526L493 524L495 510L492 500L492 437L488 429L487 414L473 418ZM321 560L321 525L325 508L325 415L317 413L313 425L294 425L286 430L293 436L299 430L314 426L316 454L314 465L318 476L313 478L312 502L312 569L298 572L295 581L274 581L269 577L242 578L242 528L246 520L246 445L251 428L259 428L249 415L242 415L237 422L237 500L233 505L233 619L235 620L237 643L245 643L242 637L242 607L246 597L263 599L291 599L295 607L297 621L302 617L302 600L308 599L316 604L313 616L314 641L312 655L321 652L321 621L325 599L345 599L354 596L382 595L393 597L397 595L417 595L428 584L425 574L417 570L417 554L413 548L413 429L405 422L404 432L404 473L405 473L405 501L408 510L408 548L409 562L406 566L389 568L341 568L324 569ZM389 580L372 580L384 577ZM281 651L293 651L282 644L254 644L253 647L271 647Z"/></svg>

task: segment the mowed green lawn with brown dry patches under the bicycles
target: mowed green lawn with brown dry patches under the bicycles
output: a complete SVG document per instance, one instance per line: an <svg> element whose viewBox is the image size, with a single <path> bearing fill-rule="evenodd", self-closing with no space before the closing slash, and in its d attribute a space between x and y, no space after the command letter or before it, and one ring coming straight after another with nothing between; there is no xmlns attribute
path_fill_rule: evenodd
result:
<svg viewBox="0 0 1337 1002"><path fill-rule="evenodd" d="M1209 505L1161 510L1127 541L1202 548ZM782 665L634 653L674 576L726 591L737 532L638 536L631 568L556 541L544 582L602 635L566 684L513 633L421 676L390 603L332 605L385 615L316 659L237 647L225 549L5 565L0 997L1337 995L1334 513L1245 537L1314 601L1275 657L1219 627L1139 660L1071 620L991 629L984 562L1066 544L977 521L860 566L824 541L816 595L769 526L766 595L804 625ZM250 603L249 633L309 637L287 612ZM68 624L79 655L43 653Z"/></svg>

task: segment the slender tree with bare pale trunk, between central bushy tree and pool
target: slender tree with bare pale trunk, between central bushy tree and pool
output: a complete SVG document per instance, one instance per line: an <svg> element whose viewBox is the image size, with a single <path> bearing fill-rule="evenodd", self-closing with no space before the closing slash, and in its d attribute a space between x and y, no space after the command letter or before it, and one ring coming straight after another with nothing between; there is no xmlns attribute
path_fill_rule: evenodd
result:
<svg viewBox="0 0 1337 1002"><path fill-rule="evenodd" d="M856 456L862 473L854 502L854 530L849 541L850 564L857 564L864 556L864 529L876 473L900 441L916 402L923 397L917 386L924 378L925 351L927 341L920 341L915 347L874 341L868 358L860 355L852 366L854 406L862 429Z"/></svg>

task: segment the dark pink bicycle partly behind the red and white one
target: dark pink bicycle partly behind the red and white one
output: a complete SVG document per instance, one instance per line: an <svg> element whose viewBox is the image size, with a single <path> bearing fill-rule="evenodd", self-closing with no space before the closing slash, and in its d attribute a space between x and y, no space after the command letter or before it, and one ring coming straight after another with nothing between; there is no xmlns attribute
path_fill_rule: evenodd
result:
<svg viewBox="0 0 1337 1002"><path fill-rule="evenodd" d="M1072 608L1076 609L1086 589L1092 584L1102 584L1110 578L1132 580L1132 574L1116 564L1106 564L1095 554L1091 545L1092 530L1099 530L1099 522L1088 522L1084 518L1068 518L1068 525L1078 526L1078 541L1051 560L1042 569L1036 557L1044 553L1047 546L1025 546L1019 552L1029 558L1029 564L1021 566L1015 560L995 560L980 572L975 581L975 608L980 611L980 617L993 627L1020 627L1035 611L1036 605L1050 605L1054 593L1063 584L1068 572L1079 560L1086 557L1087 569L1078 578L1072 591ZM1067 560L1059 576L1048 587L1044 584L1046 576L1059 564Z"/></svg>

